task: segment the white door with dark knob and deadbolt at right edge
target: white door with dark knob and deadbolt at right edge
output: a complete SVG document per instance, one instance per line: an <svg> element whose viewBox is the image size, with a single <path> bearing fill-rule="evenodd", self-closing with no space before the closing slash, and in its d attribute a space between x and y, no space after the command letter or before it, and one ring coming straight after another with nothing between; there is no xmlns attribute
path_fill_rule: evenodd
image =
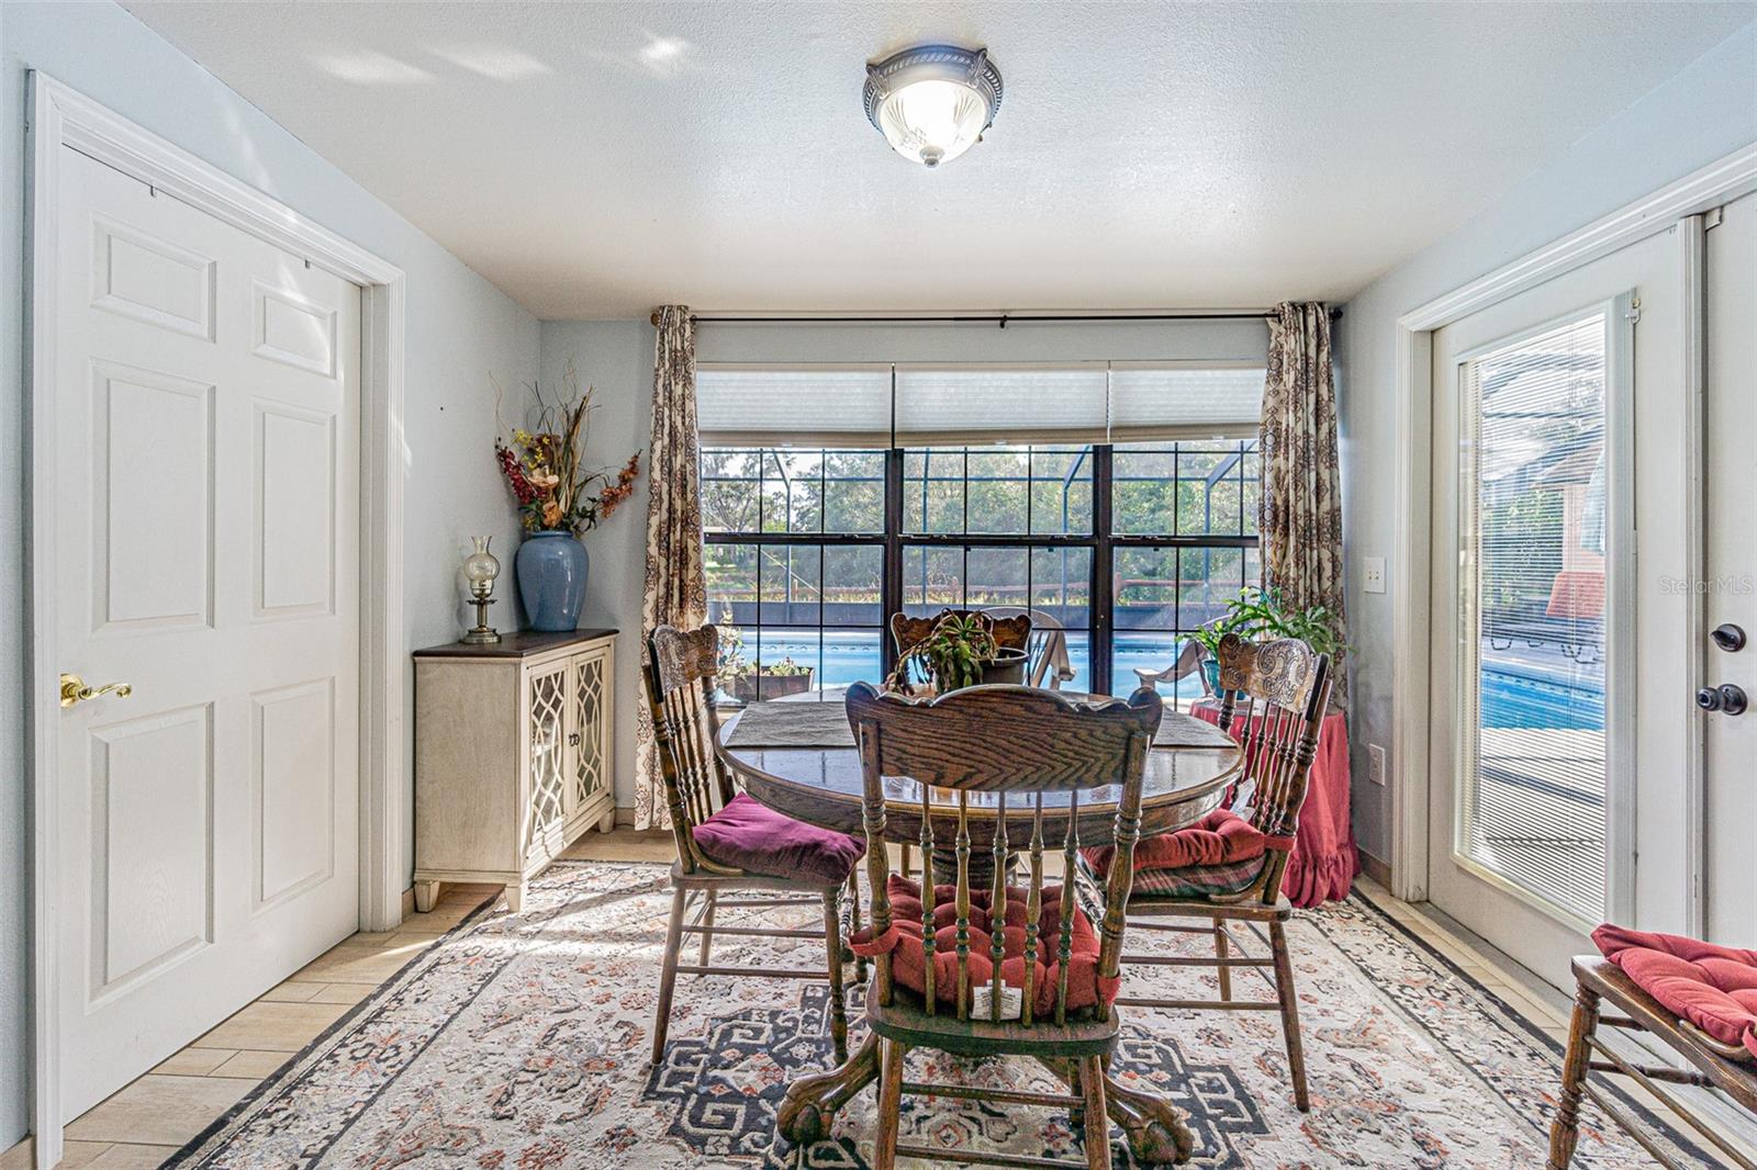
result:
<svg viewBox="0 0 1757 1170"><path fill-rule="evenodd" d="M1703 237L1706 566L1694 589L1703 627L1736 625L1745 645L1696 646L1697 687L1757 699L1757 195L1722 209ZM1731 631L1724 634L1731 645ZM1708 936L1757 947L1757 711L1703 711Z"/></svg>

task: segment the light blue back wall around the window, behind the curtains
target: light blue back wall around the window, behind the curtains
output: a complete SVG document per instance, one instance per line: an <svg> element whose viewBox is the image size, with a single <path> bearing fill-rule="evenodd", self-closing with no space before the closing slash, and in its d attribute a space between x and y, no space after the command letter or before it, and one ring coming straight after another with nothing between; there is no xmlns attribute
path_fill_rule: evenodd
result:
<svg viewBox="0 0 1757 1170"><path fill-rule="evenodd" d="M701 323L698 362L1081 362L1265 358L1262 321L1028 325L715 325ZM596 390L589 464L617 466L652 434L654 329L647 321L545 321L543 381L568 362ZM617 805L634 805L634 711L647 571L647 474L624 511L585 538L592 557L582 625L615 625Z"/></svg>

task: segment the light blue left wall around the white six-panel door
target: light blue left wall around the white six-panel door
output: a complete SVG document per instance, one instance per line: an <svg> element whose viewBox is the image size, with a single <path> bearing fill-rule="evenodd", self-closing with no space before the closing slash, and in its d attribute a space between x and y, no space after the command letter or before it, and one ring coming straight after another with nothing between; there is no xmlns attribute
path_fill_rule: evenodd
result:
<svg viewBox="0 0 1757 1170"><path fill-rule="evenodd" d="M538 323L257 107L112 4L0 4L0 596L23 596L21 509L26 70L97 98L408 272L404 613L411 648L457 636L457 564L471 532L511 546L492 462L488 371L517 394L536 374ZM30 1121L25 648L0 657L0 1151ZM411 741L409 741L411 743ZM406 754L409 743L404 745Z"/></svg>

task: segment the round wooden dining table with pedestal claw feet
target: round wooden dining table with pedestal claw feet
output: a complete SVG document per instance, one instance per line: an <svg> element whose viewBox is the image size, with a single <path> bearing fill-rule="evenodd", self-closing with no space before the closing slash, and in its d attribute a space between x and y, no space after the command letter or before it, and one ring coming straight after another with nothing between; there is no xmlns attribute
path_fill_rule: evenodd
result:
<svg viewBox="0 0 1757 1170"><path fill-rule="evenodd" d="M1068 696L1096 699L1100 696ZM813 690L791 696L787 703L835 703L842 706L840 689ZM729 719L715 738L713 750L740 778L745 792L770 808L806 824L843 833L863 833L863 794L859 750L852 733L847 743L787 747L738 747L738 720ZM1168 722L1161 738L1147 754L1147 775L1142 787L1142 834L1170 833L1200 820L1212 812L1240 769L1242 759L1232 738L1212 724L1188 715L1165 713ZM824 720L819 720L824 722ZM915 843L921 840L922 791L908 776L886 776L886 838ZM1105 845L1112 840L1116 824L1116 787L1079 791L1077 822L1082 845ZM928 817L933 840L951 843L958 833L958 791L929 789ZM977 880L977 866L991 854L998 817L998 796L968 792L970 868ZM1044 836L1058 838L1066 824L1074 801L1068 792L1044 794ZM1024 845L1031 833L1035 805L1019 799L1007 806L1007 840ZM935 849L935 871L951 873L951 854ZM987 863L993 866L993 863ZM993 871L993 870L991 870ZM1065 1075L1061 1068L1052 1068ZM801 1077L787 1087L777 1114L777 1128L794 1144L810 1144L829 1135L831 1121L842 1105L878 1077L877 1036L849 1054L849 1059L826 1073ZM1179 1158L1179 1147L1189 1149L1189 1130L1177 1110L1151 1093L1142 1093L1105 1077L1110 1119L1128 1138L1130 1151L1140 1163L1170 1165Z"/></svg>

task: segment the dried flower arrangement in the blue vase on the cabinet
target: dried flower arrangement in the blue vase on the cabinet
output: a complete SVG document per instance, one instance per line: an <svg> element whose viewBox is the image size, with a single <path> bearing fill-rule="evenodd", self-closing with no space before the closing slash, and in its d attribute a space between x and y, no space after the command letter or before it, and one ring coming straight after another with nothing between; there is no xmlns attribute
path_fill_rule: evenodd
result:
<svg viewBox="0 0 1757 1170"><path fill-rule="evenodd" d="M511 429L511 439L494 439L494 457L501 474L518 499L518 518L525 532L573 532L582 536L608 520L610 515L634 494L634 480L641 471L641 453L629 455L622 471L583 471L592 388L580 394L580 379L573 362L562 374L562 394L550 402L536 383L531 392L538 401L536 423L525 430ZM494 385L499 422L501 385ZM506 427L503 425L503 434ZM603 483L599 490L590 490Z"/></svg>

